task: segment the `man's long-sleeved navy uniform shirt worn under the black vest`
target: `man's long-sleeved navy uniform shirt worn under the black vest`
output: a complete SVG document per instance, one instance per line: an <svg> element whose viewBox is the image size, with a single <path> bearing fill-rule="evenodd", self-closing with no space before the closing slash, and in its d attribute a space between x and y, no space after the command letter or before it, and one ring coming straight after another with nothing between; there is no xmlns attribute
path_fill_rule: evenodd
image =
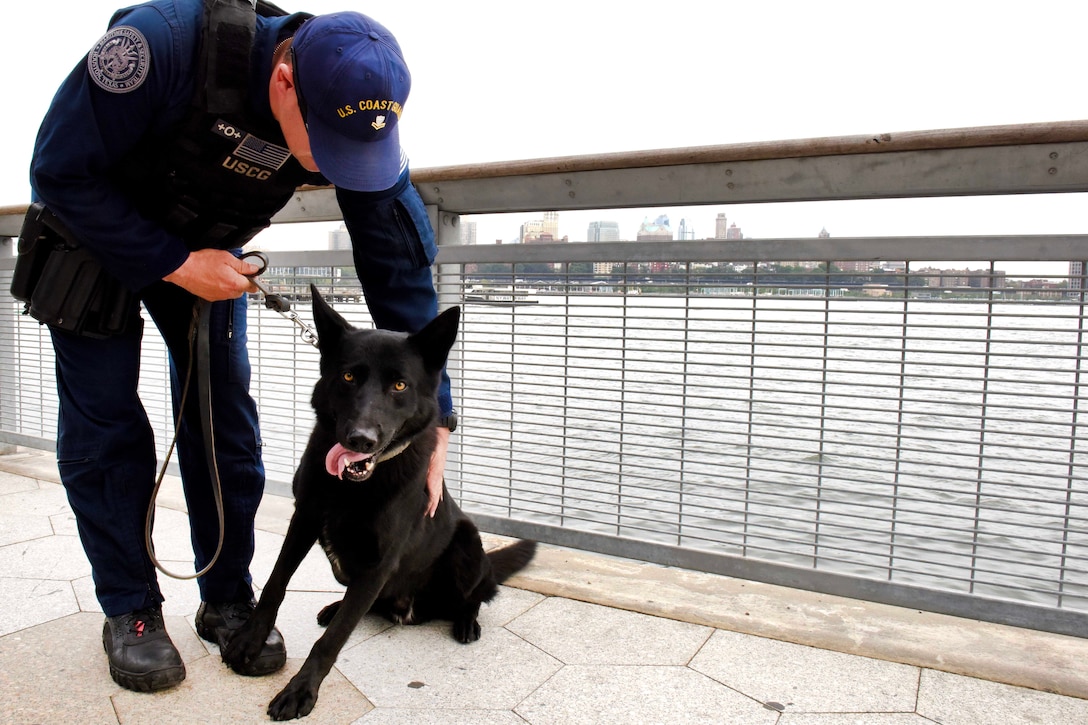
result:
<svg viewBox="0 0 1088 725"><path fill-rule="evenodd" d="M110 27L138 32L147 45L143 81L131 89L100 87L85 58L64 79L42 121L30 164L35 199L44 201L95 251L102 266L132 290L166 277L188 256L186 244L141 217L111 170L146 137L171 135L187 114L200 52L202 0L152 0L118 11ZM269 105L272 54L297 16L257 17L250 91L251 112L274 122ZM317 180L322 181L320 176ZM408 172L388 194L337 189L353 237L356 268L379 327L415 331L437 311L430 274L436 247ZM374 229L375 206L397 200L398 224L419 233L409 248L403 238ZM408 219L404 219L407 217ZM453 410L448 378L440 392L442 415Z"/></svg>

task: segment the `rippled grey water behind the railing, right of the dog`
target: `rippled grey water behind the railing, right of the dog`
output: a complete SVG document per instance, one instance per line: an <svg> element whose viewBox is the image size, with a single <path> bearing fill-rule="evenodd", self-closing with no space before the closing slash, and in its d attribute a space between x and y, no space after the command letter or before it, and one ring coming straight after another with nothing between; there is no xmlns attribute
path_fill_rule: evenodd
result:
<svg viewBox="0 0 1088 725"><path fill-rule="evenodd" d="M468 306L470 509L1083 609L1078 308Z"/></svg>

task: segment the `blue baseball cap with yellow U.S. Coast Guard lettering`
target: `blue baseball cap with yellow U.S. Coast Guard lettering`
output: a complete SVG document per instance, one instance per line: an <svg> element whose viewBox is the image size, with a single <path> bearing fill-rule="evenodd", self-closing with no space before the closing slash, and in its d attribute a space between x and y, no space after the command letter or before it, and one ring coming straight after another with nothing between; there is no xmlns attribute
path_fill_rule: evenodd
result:
<svg viewBox="0 0 1088 725"><path fill-rule="evenodd" d="M356 12L316 15L295 33L292 52L321 174L355 192L396 184L408 167L397 122L411 74L393 34Z"/></svg>

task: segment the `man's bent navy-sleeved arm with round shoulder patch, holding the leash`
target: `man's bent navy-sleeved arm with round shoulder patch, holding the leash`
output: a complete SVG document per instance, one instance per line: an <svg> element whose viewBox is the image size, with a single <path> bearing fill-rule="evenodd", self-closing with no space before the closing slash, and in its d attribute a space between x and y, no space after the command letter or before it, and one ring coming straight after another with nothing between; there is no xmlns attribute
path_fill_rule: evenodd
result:
<svg viewBox="0 0 1088 725"><path fill-rule="evenodd" d="M147 134L181 118L191 96L191 40L156 8L123 15L63 82L35 143L35 198L133 290L178 270L188 249L143 218L110 172ZM135 69L123 84L103 70L119 48Z"/></svg>

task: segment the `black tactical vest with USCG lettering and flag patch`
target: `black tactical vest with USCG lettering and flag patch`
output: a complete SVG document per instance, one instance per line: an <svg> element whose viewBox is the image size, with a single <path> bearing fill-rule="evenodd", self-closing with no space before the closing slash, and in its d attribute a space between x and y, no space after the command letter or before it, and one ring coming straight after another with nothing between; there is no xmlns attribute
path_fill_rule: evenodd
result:
<svg viewBox="0 0 1088 725"><path fill-rule="evenodd" d="M321 183L290 156L280 125L247 103L257 13L248 0L205 0L200 66L186 118L141 142L114 173L141 214L189 249L240 247L267 228L304 183ZM300 25L308 15L298 14Z"/></svg>

